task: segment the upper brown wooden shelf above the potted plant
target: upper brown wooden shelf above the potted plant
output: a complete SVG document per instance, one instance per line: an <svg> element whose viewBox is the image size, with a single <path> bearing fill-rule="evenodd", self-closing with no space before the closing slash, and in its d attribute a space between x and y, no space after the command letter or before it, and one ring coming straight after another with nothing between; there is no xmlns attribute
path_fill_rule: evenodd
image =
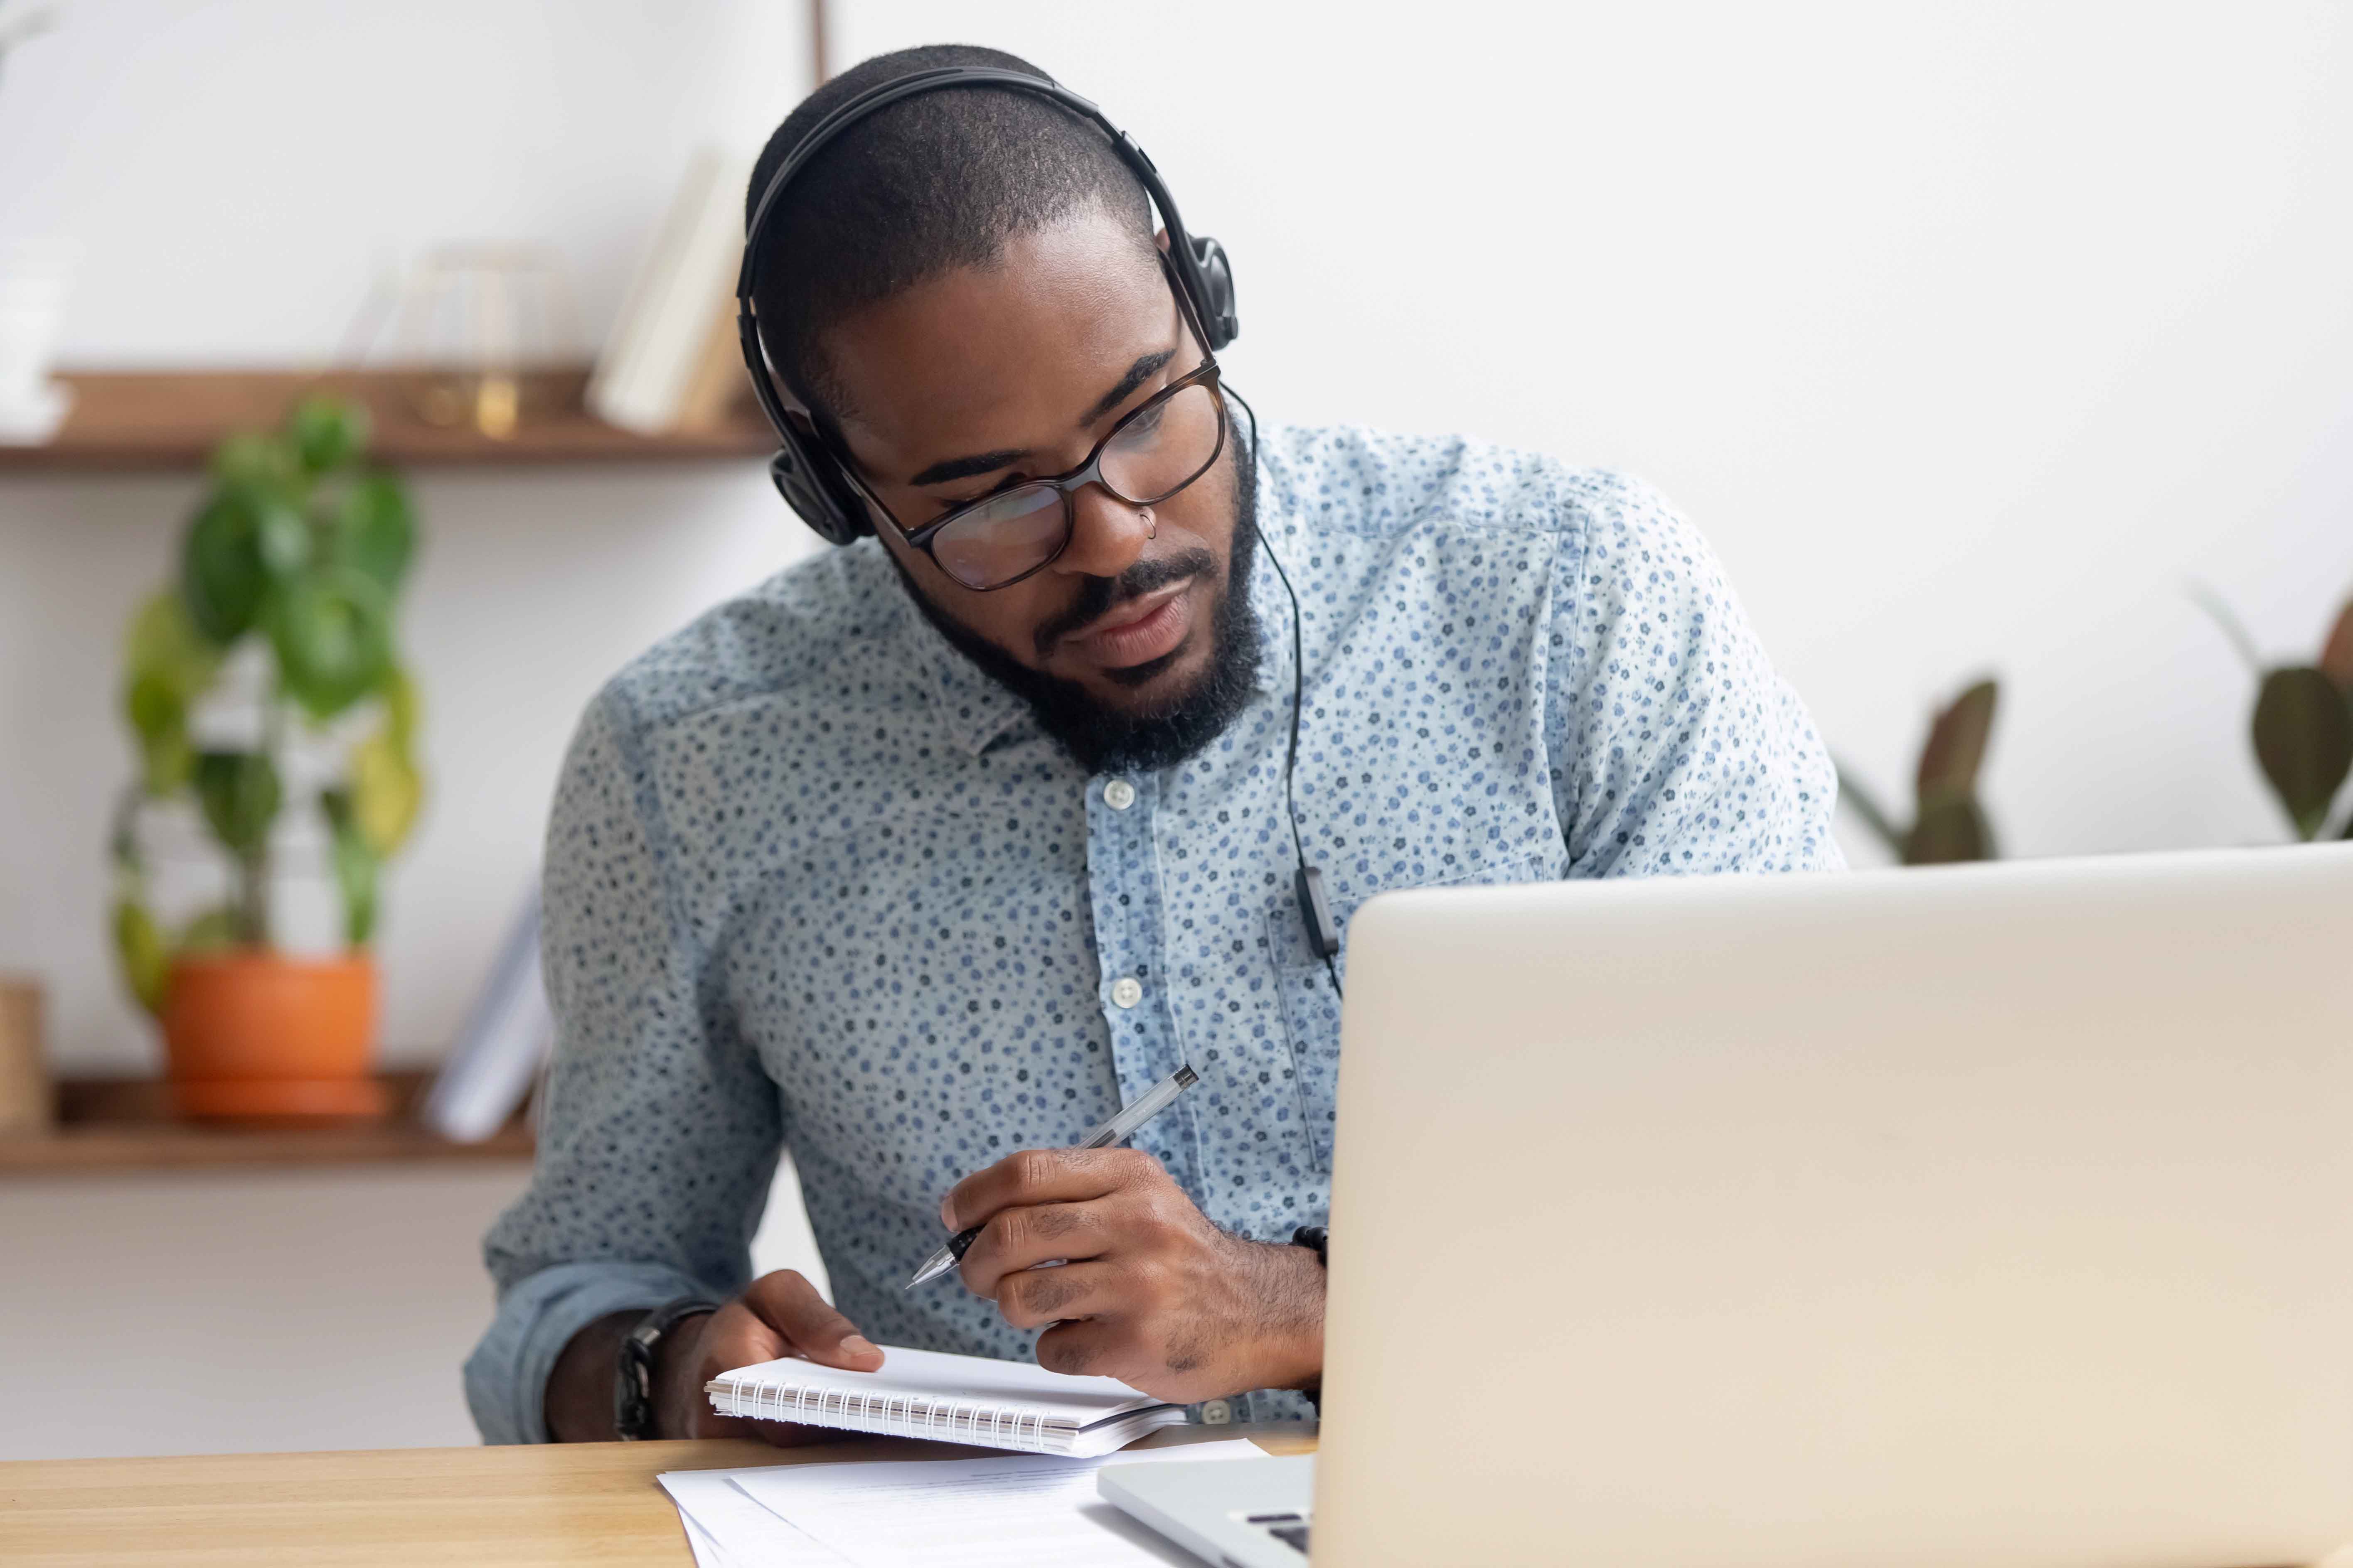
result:
<svg viewBox="0 0 2353 1568"><path fill-rule="evenodd" d="M748 404L708 430L616 430L581 407L586 367L525 376L508 440L426 423L419 371L64 371L59 381L73 388L66 425L42 447L0 447L0 475L202 468L224 435L275 425L304 393L365 402L376 418L369 456L395 465L704 463L776 449Z"/></svg>

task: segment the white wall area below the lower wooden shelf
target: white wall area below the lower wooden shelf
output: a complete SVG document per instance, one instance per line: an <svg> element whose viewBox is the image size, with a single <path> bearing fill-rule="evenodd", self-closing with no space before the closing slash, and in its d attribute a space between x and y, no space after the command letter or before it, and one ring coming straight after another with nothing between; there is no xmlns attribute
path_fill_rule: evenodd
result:
<svg viewBox="0 0 2353 1568"><path fill-rule="evenodd" d="M480 1237L525 1168L0 1182L0 1460L473 1443ZM786 1168L753 1262L826 1286Z"/></svg>

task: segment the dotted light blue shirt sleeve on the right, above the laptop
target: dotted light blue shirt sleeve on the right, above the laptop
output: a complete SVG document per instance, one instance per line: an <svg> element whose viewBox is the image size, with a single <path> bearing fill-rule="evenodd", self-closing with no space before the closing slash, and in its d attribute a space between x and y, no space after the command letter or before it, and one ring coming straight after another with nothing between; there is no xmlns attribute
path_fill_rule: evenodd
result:
<svg viewBox="0 0 2353 1568"><path fill-rule="evenodd" d="M1579 491L1546 724L1569 875L1840 870L1831 757L1715 552L1645 484Z"/></svg>

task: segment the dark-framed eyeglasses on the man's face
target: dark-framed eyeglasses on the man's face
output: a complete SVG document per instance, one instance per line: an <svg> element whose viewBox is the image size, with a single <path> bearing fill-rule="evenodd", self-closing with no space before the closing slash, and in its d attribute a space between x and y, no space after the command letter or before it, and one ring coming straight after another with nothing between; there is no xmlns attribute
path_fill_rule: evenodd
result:
<svg viewBox="0 0 2353 1568"><path fill-rule="evenodd" d="M967 501L920 529L899 527L899 531L965 588L981 592L1012 588L1049 567L1071 545L1078 527L1073 496L1082 487L1101 484L1127 505L1158 505L1209 473L1221 451L1226 451L1226 400L1217 390L1217 360L1202 360L1200 369L1111 425L1087 461L1071 473L1024 480ZM847 454L842 468L866 498L899 524Z"/></svg>

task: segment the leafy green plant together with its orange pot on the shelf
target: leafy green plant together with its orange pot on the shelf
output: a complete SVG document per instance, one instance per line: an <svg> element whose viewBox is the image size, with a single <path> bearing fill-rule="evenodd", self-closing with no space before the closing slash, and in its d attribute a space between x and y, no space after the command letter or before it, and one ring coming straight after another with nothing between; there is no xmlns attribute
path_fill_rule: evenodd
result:
<svg viewBox="0 0 2353 1568"><path fill-rule="evenodd" d="M400 480L365 461L367 411L313 397L235 435L181 536L174 581L132 616L122 710L139 778L115 816L113 938L162 1025L193 1117L369 1117L384 860L416 820L416 686L393 607L416 552ZM224 896L167 924L146 827L193 820ZM306 813L315 813L308 820ZM278 945L287 830L325 844L341 952Z"/></svg>

